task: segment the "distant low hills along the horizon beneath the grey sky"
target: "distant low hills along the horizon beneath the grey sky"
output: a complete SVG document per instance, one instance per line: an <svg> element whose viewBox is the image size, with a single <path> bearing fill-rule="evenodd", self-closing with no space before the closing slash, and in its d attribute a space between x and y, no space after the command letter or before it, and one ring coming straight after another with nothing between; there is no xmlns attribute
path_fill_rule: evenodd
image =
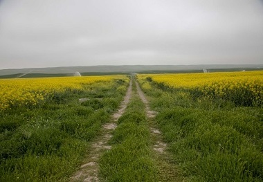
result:
<svg viewBox="0 0 263 182"><path fill-rule="evenodd" d="M105 75L113 73L190 73L214 71L262 70L263 64L212 64L212 65L122 65L122 66L69 66L33 69L3 69L0 78L28 78L48 76Z"/></svg>

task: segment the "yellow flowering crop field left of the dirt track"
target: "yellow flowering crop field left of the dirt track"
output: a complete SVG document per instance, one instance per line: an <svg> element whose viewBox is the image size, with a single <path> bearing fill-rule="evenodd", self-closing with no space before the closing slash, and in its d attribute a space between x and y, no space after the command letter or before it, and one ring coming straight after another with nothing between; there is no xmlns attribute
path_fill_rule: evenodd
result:
<svg viewBox="0 0 263 182"><path fill-rule="evenodd" d="M111 81L123 76L89 76L67 78L26 78L0 80L0 111L12 106L36 105L48 95L66 89L82 89L83 84Z"/></svg>

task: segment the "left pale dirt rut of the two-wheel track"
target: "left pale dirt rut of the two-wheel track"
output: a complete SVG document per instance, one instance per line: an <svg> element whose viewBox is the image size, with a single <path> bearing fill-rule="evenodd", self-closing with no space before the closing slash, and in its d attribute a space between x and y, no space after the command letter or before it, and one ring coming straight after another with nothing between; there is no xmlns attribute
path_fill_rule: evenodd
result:
<svg viewBox="0 0 263 182"><path fill-rule="evenodd" d="M120 104L120 108L116 113L113 114L112 118L114 122L120 118L125 112L127 104L131 98L131 86L132 82L129 82L129 87L123 102ZM102 135L96 138L96 140L91 143L91 149L84 163L81 165L80 170L76 172L69 181L86 181L86 182L96 182L100 181L98 179L98 160L102 152L111 149L110 145L107 145L109 139L112 137L111 131L116 129L117 125L114 122L107 123L103 125Z"/></svg>

